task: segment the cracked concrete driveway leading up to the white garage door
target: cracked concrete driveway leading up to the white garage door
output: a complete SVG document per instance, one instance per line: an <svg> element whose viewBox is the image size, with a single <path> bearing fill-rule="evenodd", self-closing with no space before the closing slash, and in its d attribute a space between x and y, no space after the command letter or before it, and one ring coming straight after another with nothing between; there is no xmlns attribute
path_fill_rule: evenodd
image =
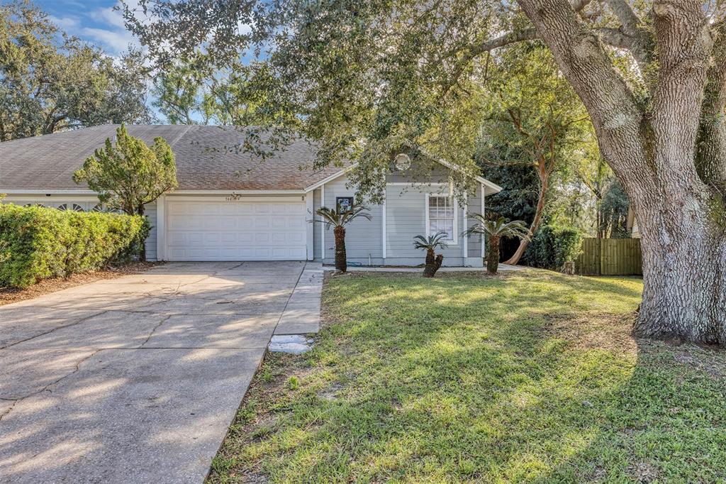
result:
<svg viewBox="0 0 726 484"><path fill-rule="evenodd" d="M0 307L0 482L202 482L286 307L319 311L304 267L170 263Z"/></svg>

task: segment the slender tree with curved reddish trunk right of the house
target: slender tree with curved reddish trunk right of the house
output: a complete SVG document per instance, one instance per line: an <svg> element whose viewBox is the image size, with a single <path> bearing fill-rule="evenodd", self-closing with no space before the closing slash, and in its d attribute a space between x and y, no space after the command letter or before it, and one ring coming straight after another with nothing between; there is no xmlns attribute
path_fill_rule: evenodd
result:
<svg viewBox="0 0 726 484"><path fill-rule="evenodd" d="M486 70L486 99L489 101L484 126L484 149L479 156L489 164L523 164L539 180L537 204L526 237L505 264L516 265L542 221L550 178L567 164L571 152L587 139L590 124L582 102L559 76L550 52L537 44L507 47ZM492 145L491 152L486 146ZM502 145L507 150L504 158ZM518 153L520 157L512 156Z"/></svg>

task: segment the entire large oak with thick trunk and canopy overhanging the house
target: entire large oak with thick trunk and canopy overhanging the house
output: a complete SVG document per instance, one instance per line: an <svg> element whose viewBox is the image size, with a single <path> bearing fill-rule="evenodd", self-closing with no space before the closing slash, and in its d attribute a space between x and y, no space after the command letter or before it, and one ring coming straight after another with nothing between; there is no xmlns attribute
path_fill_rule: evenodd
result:
<svg viewBox="0 0 726 484"><path fill-rule="evenodd" d="M271 108L299 113L320 163L375 184L407 142L470 168L486 60L539 41L587 108L643 235L637 334L726 343L723 0L141 0L160 62L259 54ZM255 65L250 64L254 70Z"/></svg>

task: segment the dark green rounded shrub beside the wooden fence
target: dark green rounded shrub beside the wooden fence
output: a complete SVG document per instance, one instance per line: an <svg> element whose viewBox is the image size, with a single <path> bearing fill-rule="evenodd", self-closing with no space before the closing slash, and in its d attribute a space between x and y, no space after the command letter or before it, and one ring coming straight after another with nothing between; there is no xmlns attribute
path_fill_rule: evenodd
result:
<svg viewBox="0 0 726 484"><path fill-rule="evenodd" d="M524 257L531 267L562 270L565 262L577 259L581 251L581 230L576 227L543 225L534 234Z"/></svg>

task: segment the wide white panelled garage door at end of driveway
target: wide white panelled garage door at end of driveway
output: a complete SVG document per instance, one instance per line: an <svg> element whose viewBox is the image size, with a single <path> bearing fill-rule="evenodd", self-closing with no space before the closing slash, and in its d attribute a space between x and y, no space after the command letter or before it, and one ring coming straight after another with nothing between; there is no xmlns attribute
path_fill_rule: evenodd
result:
<svg viewBox="0 0 726 484"><path fill-rule="evenodd" d="M168 260L304 260L301 201L167 201Z"/></svg>

